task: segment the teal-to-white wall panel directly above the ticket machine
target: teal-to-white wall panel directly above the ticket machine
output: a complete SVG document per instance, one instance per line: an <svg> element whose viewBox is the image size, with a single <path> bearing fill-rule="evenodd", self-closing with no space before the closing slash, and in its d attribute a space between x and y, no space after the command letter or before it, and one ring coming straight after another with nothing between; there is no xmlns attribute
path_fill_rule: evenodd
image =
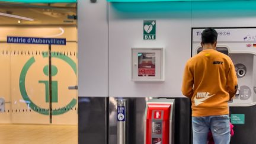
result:
<svg viewBox="0 0 256 144"><path fill-rule="evenodd" d="M255 27L255 1L192 3L192 27Z"/></svg>

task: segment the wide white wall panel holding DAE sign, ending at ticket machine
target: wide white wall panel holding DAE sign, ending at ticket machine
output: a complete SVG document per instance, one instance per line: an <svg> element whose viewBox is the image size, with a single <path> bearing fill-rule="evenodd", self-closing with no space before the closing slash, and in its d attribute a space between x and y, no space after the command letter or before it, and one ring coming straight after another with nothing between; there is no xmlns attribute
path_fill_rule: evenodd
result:
<svg viewBox="0 0 256 144"><path fill-rule="evenodd" d="M182 97L190 57L191 2L111 3L110 97ZM156 40L143 40L143 20L156 20ZM131 81L131 47L165 48L165 81Z"/></svg>

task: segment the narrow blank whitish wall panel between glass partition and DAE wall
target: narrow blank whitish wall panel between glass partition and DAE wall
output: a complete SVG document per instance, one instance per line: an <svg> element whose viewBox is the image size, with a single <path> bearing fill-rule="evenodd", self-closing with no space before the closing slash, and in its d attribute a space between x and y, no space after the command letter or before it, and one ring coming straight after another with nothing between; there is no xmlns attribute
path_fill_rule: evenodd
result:
<svg viewBox="0 0 256 144"><path fill-rule="evenodd" d="M78 0L78 95L108 96L107 2Z"/></svg>

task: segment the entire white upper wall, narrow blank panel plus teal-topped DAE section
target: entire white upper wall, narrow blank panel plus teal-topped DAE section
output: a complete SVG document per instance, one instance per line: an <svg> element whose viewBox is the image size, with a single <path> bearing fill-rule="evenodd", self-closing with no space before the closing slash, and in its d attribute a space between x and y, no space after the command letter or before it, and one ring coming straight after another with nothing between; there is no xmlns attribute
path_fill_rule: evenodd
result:
<svg viewBox="0 0 256 144"><path fill-rule="evenodd" d="M78 1L79 95L107 95L109 78L111 97L183 97L181 81L191 54L191 27L255 27L255 4ZM143 20L156 20L156 40L143 40ZM165 48L164 82L131 81L132 47Z"/></svg>

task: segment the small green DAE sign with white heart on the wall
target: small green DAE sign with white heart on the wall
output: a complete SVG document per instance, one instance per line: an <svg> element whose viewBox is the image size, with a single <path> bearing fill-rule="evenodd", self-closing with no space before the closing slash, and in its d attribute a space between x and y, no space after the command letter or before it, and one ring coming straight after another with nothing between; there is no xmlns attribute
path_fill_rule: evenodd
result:
<svg viewBox="0 0 256 144"><path fill-rule="evenodd" d="M155 40L156 39L156 20L144 20L143 24L143 39Z"/></svg>

